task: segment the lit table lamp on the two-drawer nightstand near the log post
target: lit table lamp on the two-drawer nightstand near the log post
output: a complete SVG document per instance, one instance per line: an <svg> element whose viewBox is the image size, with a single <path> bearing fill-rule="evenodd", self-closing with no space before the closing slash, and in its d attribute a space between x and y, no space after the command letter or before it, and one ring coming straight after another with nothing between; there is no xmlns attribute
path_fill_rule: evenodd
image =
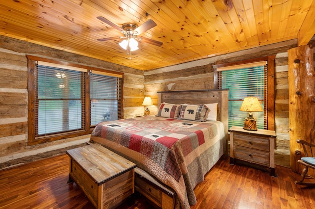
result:
<svg viewBox="0 0 315 209"><path fill-rule="evenodd" d="M257 131L256 117L252 116L252 112L264 111L256 97L245 97L241 105L240 111L250 112L249 116L245 118L244 128L248 131Z"/></svg>

